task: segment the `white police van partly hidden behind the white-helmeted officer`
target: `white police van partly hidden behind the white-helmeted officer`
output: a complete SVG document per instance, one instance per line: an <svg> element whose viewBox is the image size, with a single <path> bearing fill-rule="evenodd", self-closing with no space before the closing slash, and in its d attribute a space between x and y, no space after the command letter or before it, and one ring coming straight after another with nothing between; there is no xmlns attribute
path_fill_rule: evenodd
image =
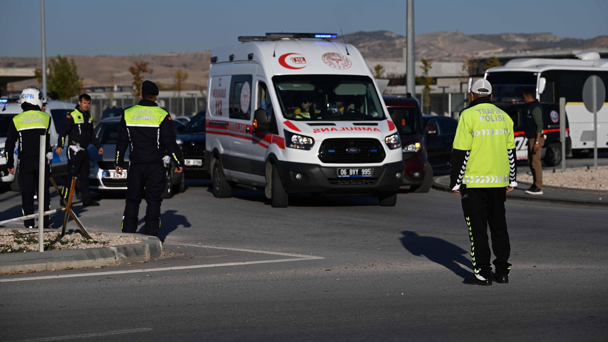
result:
<svg viewBox="0 0 608 342"><path fill-rule="evenodd" d="M63 120L66 114L73 111L75 108L74 103L61 102L61 101L48 101L46 104L45 112L51 116L52 125L50 125L50 145L57 148L57 139L59 131L63 125ZM0 184L10 184L13 191L19 191L19 175L11 175L6 165L6 159L4 158L4 142L7 138L7 132L9 130L9 122L17 114L21 113L21 103L19 98L0 99ZM17 145L16 145L17 146ZM19 163L17 158L17 149L15 148L15 167ZM53 160L51 161L51 175L57 178L58 176L67 175L67 157L66 152L61 152L58 155L56 152L53 153Z"/></svg>

